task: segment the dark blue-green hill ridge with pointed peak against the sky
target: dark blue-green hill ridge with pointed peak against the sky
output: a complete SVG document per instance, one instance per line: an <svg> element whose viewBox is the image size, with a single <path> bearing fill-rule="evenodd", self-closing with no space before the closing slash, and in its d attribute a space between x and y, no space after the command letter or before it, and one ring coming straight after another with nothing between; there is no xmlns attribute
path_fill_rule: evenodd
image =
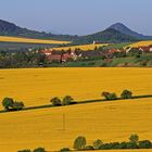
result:
<svg viewBox="0 0 152 152"><path fill-rule="evenodd" d="M90 43L96 41L101 42L130 42L140 39L152 39L152 37L138 34L122 23L116 23L105 30L88 35L88 36L71 36L71 35L54 35L51 33L36 31L27 28L20 27L13 23L0 20L0 35L1 36L16 36L26 38L39 39L54 39L54 40L68 40L74 43Z"/></svg>

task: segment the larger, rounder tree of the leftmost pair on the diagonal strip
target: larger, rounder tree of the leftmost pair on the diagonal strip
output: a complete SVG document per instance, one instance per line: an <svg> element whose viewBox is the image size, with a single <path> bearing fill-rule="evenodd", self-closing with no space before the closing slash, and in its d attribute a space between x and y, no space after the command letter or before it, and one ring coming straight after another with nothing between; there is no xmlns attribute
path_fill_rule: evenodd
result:
<svg viewBox="0 0 152 152"><path fill-rule="evenodd" d="M10 109L13 107L13 103L14 103L14 101L12 98L4 98L2 100L2 105L5 109L5 111L10 111Z"/></svg>

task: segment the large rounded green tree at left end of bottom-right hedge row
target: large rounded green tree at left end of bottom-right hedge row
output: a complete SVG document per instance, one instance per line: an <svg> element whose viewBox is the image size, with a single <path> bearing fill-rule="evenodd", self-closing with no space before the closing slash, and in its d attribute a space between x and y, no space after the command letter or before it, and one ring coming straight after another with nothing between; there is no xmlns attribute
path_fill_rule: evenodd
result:
<svg viewBox="0 0 152 152"><path fill-rule="evenodd" d="M74 149L75 150L85 150L86 143L87 143L86 138L83 136L79 136L74 141Z"/></svg>

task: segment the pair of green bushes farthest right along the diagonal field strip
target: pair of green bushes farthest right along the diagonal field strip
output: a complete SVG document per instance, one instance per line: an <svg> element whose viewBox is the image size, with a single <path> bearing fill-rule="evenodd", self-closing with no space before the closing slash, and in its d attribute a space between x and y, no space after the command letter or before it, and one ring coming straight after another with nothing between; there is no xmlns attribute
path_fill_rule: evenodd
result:
<svg viewBox="0 0 152 152"><path fill-rule="evenodd" d="M111 93L111 92L102 92L101 96L104 97L105 100L131 99L132 92L129 90L124 90L121 93L121 98L118 98L116 93Z"/></svg>

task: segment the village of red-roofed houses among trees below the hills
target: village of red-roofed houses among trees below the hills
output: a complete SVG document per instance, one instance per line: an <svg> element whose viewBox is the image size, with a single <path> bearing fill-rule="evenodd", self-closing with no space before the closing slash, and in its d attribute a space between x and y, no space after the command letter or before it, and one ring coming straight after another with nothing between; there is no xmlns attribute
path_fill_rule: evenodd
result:
<svg viewBox="0 0 152 152"><path fill-rule="evenodd" d="M47 60L52 63L65 63L69 61L77 61L79 59L88 60L93 58L100 58L100 59L113 59L118 56L126 56L129 53L132 54L142 54L142 53L152 53L152 46L139 46L136 48L130 47L124 47L122 49L115 49L115 48L104 48L103 47L94 47L94 50L87 50L84 51L79 48L75 49L68 49L68 50L55 50L55 49L43 49L39 51L41 54L45 54Z"/></svg>

